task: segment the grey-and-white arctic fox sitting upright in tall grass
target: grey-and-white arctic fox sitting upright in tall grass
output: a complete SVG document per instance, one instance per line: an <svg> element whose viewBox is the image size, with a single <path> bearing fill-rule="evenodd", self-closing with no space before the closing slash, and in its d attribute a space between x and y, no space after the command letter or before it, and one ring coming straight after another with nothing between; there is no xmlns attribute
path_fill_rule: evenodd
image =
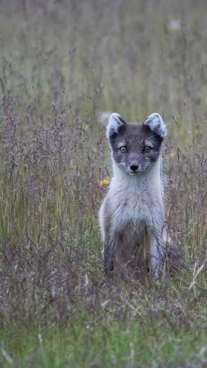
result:
<svg viewBox="0 0 207 368"><path fill-rule="evenodd" d="M112 180L99 211L103 265L145 268L157 276L164 264L166 227L161 184L161 143L166 125L157 112L141 125L110 116L107 138Z"/></svg>

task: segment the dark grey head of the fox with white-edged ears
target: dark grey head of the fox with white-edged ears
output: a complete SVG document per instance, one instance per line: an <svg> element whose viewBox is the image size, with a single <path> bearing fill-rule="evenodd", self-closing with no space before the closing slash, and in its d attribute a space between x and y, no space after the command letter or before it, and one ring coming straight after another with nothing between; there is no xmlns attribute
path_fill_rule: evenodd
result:
<svg viewBox="0 0 207 368"><path fill-rule="evenodd" d="M126 123L116 112L110 116L107 138L112 160L130 175L144 174L152 169L166 137L166 125L157 112L141 125Z"/></svg>

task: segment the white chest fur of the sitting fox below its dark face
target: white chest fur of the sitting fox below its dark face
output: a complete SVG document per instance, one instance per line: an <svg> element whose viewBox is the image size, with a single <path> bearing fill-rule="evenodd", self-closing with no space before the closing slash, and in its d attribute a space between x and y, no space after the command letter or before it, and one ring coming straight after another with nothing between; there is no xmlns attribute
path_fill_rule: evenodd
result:
<svg viewBox="0 0 207 368"><path fill-rule="evenodd" d="M157 221L157 212L162 209L160 161L143 175L130 176L115 163L113 170L108 193L112 228L119 231L130 223L141 230L144 224Z"/></svg>

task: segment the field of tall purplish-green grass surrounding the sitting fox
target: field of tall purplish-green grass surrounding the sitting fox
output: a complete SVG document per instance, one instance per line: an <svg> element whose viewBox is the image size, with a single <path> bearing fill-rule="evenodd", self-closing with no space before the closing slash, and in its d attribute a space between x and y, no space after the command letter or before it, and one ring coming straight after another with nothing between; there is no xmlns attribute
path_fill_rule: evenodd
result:
<svg viewBox="0 0 207 368"><path fill-rule="evenodd" d="M206 367L206 1L0 10L0 366ZM104 111L168 125L171 276L103 275Z"/></svg>

